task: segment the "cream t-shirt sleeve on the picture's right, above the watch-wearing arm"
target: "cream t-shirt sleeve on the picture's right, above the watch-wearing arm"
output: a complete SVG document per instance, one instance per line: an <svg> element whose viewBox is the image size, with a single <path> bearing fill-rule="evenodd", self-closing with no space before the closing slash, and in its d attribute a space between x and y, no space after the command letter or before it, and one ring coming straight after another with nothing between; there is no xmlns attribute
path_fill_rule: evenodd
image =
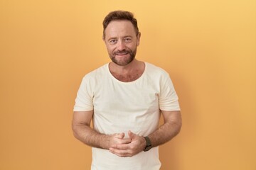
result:
<svg viewBox="0 0 256 170"><path fill-rule="evenodd" d="M178 96L168 73L160 81L159 108L161 111L180 111Z"/></svg>

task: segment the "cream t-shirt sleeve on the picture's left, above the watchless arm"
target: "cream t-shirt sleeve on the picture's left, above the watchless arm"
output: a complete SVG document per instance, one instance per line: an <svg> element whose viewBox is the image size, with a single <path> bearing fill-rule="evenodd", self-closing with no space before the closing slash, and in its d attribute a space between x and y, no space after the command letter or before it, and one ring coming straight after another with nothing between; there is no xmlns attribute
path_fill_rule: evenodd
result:
<svg viewBox="0 0 256 170"><path fill-rule="evenodd" d="M92 111L93 110L93 91L90 79L84 77L78 89L77 97L75 98L75 106L73 111Z"/></svg>

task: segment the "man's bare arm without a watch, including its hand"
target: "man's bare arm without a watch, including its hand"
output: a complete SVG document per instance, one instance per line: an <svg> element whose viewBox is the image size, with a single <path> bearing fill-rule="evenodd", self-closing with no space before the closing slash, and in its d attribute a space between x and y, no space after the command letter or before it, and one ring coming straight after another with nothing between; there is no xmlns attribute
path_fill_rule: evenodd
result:
<svg viewBox="0 0 256 170"><path fill-rule="evenodd" d="M109 149L114 144L131 142L130 139L123 139L124 133L113 135L101 134L90 128L93 111L75 111L73 114L73 134L81 142L90 147Z"/></svg>

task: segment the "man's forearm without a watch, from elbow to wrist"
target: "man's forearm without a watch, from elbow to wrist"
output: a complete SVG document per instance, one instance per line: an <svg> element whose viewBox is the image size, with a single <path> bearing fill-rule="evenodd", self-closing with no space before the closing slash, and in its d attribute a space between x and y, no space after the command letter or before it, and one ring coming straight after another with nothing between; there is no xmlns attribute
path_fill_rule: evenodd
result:
<svg viewBox="0 0 256 170"><path fill-rule="evenodd" d="M102 149L109 149L108 146L110 141L109 135L103 135L99 132L96 132L89 125L73 125L73 134L75 138L85 143L90 147L97 147Z"/></svg>

